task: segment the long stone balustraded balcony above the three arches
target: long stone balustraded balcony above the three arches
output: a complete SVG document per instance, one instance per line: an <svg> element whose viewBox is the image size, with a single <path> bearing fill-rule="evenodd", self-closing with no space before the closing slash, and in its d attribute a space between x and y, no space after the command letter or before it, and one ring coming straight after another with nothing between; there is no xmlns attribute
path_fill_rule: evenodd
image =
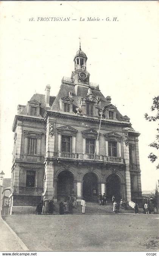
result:
<svg viewBox="0 0 159 256"><path fill-rule="evenodd" d="M95 154L82 154L82 153L71 153L71 152L58 152L59 159L65 160L81 160L81 161L95 161L103 163L113 163L113 164L124 164L124 159L122 157L116 156L103 156Z"/></svg>

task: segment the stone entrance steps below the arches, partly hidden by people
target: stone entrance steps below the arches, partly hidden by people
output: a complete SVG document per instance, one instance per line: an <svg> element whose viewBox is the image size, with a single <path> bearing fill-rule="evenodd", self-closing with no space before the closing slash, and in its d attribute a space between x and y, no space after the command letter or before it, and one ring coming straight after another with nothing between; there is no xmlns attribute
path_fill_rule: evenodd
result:
<svg viewBox="0 0 159 256"><path fill-rule="evenodd" d="M117 214L128 214L134 213L134 209L129 205L127 206L127 210L120 209ZM54 214L59 214L59 203L55 203L55 212ZM73 208L73 214L82 214L81 203L77 202L77 207ZM112 204L107 205L99 205L96 202L86 202L86 211L85 214L115 214L113 212Z"/></svg>

